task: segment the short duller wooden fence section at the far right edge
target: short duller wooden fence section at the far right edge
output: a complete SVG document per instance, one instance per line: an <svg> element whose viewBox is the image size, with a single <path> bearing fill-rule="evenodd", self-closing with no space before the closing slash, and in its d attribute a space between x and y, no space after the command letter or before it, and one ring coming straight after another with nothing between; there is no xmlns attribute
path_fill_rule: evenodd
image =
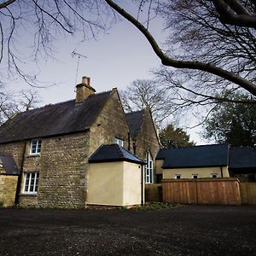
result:
<svg viewBox="0 0 256 256"><path fill-rule="evenodd" d="M256 183L240 183L241 204L256 205Z"/></svg>

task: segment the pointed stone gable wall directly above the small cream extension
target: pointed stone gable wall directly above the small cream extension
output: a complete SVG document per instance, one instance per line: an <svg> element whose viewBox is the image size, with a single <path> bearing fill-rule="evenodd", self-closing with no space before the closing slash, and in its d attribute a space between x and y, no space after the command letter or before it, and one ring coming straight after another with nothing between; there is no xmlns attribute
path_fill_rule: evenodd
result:
<svg viewBox="0 0 256 256"><path fill-rule="evenodd" d="M114 137L124 140L124 148L128 148L128 132L129 128L117 90L113 90L112 96L90 128L90 154L102 143L113 143Z"/></svg>

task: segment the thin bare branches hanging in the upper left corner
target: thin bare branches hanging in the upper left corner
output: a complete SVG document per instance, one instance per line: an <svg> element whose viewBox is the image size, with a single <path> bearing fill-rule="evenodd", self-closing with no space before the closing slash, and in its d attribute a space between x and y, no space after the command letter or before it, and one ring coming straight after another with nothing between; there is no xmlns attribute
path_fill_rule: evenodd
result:
<svg viewBox="0 0 256 256"><path fill-rule="evenodd" d="M6 0L0 3L1 81L20 77L35 86L38 59L53 57L55 43L79 34L81 41L96 38L112 25L114 13L96 0ZM26 43L25 43L26 42ZM33 61L35 70L27 70Z"/></svg>

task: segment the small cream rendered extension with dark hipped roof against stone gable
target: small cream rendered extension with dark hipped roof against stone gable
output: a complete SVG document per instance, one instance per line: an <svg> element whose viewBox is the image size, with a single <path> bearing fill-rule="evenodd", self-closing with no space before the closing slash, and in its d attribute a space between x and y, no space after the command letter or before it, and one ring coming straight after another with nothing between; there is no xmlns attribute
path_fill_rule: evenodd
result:
<svg viewBox="0 0 256 256"><path fill-rule="evenodd" d="M143 204L145 162L118 144L90 155L87 204L129 207Z"/></svg>

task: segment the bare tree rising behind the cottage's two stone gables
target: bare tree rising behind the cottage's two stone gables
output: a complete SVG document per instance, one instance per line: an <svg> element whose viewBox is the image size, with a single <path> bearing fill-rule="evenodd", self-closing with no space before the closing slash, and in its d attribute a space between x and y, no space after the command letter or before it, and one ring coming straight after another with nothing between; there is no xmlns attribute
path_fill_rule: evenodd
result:
<svg viewBox="0 0 256 256"><path fill-rule="evenodd" d="M172 97L164 84L154 80L138 79L120 93L125 111L147 108L154 123L160 125L172 115Z"/></svg>

